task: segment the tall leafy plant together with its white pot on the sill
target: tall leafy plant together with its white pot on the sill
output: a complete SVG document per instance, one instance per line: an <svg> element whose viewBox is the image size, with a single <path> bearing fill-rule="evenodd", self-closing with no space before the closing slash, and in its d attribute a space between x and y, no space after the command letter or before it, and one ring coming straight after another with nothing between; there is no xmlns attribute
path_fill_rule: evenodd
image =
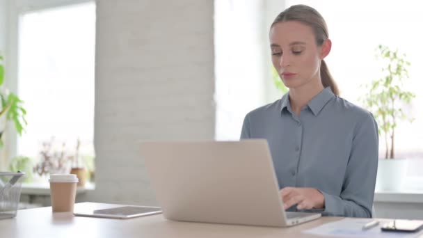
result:
<svg viewBox="0 0 423 238"><path fill-rule="evenodd" d="M395 129L401 120L413 121L403 111L415 97L404 89L410 62L406 61L406 54L383 45L379 45L376 51L376 57L383 63L383 76L365 85L367 95L361 100L378 122L378 133L385 144L385 157L378 163L376 188L398 190L406 173L406 159L395 157Z"/></svg>

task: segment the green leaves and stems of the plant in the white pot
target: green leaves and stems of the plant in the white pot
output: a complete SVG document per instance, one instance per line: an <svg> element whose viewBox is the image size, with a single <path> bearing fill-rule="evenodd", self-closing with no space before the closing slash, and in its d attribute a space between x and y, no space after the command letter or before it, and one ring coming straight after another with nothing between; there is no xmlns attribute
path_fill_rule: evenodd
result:
<svg viewBox="0 0 423 238"><path fill-rule="evenodd" d="M400 54L398 50L392 51L383 45L378 45L376 51L376 58L384 63L381 69L383 76L365 85L368 94L360 100L369 111L372 111L378 122L379 134L385 137L385 156L394 158L394 131L397 122L399 120L413 121L413 118L410 118L402 109L415 97L413 93L404 90L404 81L408 79L410 62L406 61L406 54Z"/></svg>

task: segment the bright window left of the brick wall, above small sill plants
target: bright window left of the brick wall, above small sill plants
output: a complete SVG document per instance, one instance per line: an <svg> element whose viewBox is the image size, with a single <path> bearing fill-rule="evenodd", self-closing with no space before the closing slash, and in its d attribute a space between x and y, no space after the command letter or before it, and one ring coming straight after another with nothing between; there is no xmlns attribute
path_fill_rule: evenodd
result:
<svg viewBox="0 0 423 238"><path fill-rule="evenodd" d="M79 140L81 157L93 158L95 3L22 13L18 29L17 88L28 126L17 155L38 159L51 140L51 152L73 155Z"/></svg>

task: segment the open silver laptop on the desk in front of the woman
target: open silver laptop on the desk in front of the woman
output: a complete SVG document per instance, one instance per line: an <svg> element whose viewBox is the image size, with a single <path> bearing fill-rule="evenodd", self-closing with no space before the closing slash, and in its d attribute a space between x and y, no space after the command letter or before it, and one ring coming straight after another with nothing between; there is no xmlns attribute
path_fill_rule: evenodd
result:
<svg viewBox="0 0 423 238"><path fill-rule="evenodd" d="M166 219L285 227L321 216L285 212L264 139L150 141L140 149Z"/></svg>

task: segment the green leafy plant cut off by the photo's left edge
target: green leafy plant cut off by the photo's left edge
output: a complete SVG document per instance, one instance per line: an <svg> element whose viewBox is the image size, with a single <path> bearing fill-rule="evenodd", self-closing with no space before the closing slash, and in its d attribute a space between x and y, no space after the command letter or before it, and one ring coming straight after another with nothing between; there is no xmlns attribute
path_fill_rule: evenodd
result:
<svg viewBox="0 0 423 238"><path fill-rule="evenodd" d="M3 87L4 82L4 58L0 54L0 148L3 146L3 134L6 129L6 122L11 121L15 124L17 134L22 135L26 126L26 110L23 107L23 101L15 93L10 93Z"/></svg>

